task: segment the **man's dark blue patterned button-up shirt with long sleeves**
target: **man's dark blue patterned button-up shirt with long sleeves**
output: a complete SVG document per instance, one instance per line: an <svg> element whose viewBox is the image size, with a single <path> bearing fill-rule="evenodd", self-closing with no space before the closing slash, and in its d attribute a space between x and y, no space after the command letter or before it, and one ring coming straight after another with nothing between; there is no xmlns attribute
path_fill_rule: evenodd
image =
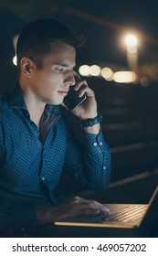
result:
<svg viewBox="0 0 158 256"><path fill-rule="evenodd" d="M40 136L16 82L0 98L0 234L36 226L36 207L57 204L54 190L63 170L83 187L105 189L111 153L102 133L74 136L60 106L47 104L51 122ZM48 123L48 124L47 124Z"/></svg>

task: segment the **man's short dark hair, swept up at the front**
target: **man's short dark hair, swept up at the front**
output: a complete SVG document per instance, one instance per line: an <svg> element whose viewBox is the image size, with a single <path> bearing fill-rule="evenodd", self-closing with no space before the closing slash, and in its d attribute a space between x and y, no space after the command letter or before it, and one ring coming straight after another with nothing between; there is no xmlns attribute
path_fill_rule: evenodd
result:
<svg viewBox="0 0 158 256"><path fill-rule="evenodd" d="M41 69L44 56L50 53L56 41L65 42L76 49L82 44L81 37L57 19L41 18L28 23L17 40L17 74L19 75L20 60L23 57L32 59L37 68Z"/></svg>

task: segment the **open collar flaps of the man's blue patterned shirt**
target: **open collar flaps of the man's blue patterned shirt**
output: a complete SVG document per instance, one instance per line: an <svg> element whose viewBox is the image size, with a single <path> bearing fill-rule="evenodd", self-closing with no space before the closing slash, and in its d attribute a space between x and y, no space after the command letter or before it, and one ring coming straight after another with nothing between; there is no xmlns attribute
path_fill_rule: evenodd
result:
<svg viewBox="0 0 158 256"><path fill-rule="evenodd" d="M26 102L24 101L23 91L21 90L18 81L16 81L11 90L7 93L7 101L10 107L20 108L27 111ZM48 104L46 108L49 112L53 112L55 114L60 114L60 106Z"/></svg>

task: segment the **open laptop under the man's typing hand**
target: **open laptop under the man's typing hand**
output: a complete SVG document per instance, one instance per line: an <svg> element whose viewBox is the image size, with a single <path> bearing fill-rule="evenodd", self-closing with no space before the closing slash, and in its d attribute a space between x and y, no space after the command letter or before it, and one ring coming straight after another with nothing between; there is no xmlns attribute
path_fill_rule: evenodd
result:
<svg viewBox="0 0 158 256"><path fill-rule="evenodd" d="M134 229L145 226L158 218L158 186L153 192L149 203L146 204L105 204L111 209L108 214L100 213L95 216L79 216L59 219L58 226L100 227Z"/></svg>

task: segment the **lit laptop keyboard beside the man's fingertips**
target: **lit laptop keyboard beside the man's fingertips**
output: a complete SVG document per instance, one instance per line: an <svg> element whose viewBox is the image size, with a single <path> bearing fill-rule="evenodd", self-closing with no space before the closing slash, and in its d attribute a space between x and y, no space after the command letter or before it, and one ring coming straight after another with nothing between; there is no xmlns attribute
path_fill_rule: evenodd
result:
<svg viewBox="0 0 158 256"><path fill-rule="evenodd" d="M143 216L145 213L147 206L127 206L125 208L121 208L114 214L106 214L104 217L104 221L121 221L121 222L129 222L135 221Z"/></svg>

